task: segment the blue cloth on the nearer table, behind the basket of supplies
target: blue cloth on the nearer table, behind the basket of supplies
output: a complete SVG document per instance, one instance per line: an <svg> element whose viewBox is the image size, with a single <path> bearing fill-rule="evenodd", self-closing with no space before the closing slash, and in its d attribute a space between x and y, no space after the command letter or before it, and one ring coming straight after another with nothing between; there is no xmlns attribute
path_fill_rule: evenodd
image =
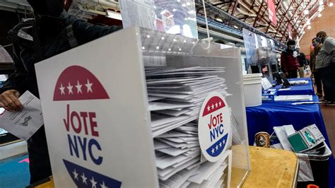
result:
<svg viewBox="0 0 335 188"><path fill-rule="evenodd" d="M317 96L313 95L313 101L318 100ZM250 146L254 144L254 135L259 131L266 131L271 134L274 132L273 127L286 124L293 124L295 130L300 130L310 124L316 124L330 148L319 104L292 105L292 102L263 102L262 105L257 107L247 107L246 111ZM331 156L329 158L329 187L334 187L334 177L335 161Z"/></svg>

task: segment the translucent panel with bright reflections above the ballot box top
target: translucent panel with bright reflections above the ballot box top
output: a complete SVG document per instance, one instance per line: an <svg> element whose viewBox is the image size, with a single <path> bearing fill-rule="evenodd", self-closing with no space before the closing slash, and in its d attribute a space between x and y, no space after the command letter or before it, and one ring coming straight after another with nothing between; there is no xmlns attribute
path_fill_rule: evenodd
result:
<svg viewBox="0 0 335 188"><path fill-rule="evenodd" d="M198 38L194 1L120 0L124 28L136 25Z"/></svg>

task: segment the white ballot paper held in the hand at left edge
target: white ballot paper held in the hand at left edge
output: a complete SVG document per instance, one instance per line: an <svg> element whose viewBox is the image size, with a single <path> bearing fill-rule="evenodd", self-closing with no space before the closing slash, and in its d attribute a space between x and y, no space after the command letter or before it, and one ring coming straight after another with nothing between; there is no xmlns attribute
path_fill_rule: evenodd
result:
<svg viewBox="0 0 335 188"><path fill-rule="evenodd" d="M0 115L0 127L27 141L44 124L40 100L26 91L19 98L23 109L18 112L5 111Z"/></svg>

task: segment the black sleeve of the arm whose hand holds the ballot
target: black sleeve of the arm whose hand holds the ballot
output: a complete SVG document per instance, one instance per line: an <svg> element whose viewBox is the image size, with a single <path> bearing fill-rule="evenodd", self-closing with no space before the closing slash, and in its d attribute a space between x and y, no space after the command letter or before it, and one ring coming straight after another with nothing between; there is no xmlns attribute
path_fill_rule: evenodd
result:
<svg viewBox="0 0 335 188"><path fill-rule="evenodd" d="M0 88L0 93L4 93L6 90L15 89L21 94L26 90L25 81L27 77L27 71L23 62L20 59L20 46L13 45L13 61L14 61L14 73L9 76L4 86Z"/></svg>

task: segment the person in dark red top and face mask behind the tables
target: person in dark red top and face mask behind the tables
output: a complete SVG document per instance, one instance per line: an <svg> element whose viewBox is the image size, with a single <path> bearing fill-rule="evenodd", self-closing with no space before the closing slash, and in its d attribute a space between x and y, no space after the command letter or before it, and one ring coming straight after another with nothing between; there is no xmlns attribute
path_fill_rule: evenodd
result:
<svg viewBox="0 0 335 188"><path fill-rule="evenodd" d="M297 78L299 62L298 53L295 51L295 41L288 40L287 46L286 51L281 53L281 69L286 78Z"/></svg>

